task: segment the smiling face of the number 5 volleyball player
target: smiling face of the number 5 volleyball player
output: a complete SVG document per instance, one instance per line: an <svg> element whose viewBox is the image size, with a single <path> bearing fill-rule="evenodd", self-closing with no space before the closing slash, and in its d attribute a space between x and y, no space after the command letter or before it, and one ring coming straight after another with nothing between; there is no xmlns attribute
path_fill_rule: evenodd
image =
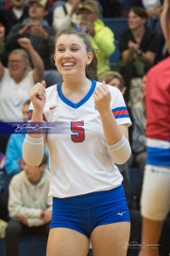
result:
<svg viewBox="0 0 170 256"><path fill-rule="evenodd" d="M86 64L90 64L93 53L87 52L83 39L75 34L62 34L56 44L54 61L62 76L75 74L85 76Z"/></svg>

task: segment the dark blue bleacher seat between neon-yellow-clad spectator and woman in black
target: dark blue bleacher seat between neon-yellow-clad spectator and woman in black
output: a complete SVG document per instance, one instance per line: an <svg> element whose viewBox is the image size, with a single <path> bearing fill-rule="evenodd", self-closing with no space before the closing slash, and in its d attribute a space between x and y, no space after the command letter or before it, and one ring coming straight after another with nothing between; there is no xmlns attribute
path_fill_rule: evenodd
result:
<svg viewBox="0 0 170 256"><path fill-rule="evenodd" d="M119 40L120 34L128 28L127 18L104 18L103 22L113 31L116 40Z"/></svg>

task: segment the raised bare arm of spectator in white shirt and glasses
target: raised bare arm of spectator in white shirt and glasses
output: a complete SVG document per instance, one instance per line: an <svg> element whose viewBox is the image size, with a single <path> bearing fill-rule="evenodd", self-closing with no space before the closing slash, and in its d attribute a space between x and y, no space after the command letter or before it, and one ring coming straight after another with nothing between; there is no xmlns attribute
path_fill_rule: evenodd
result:
<svg viewBox="0 0 170 256"><path fill-rule="evenodd" d="M42 58L40 57L38 52L34 49L34 47L31 45L31 42L28 38L20 38L18 39L18 43L20 44L20 46L26 49L26 51L30 56L31 62L34 66L34 69L33 69L34 82L42 82L43 70L44 70Z"/></svg>

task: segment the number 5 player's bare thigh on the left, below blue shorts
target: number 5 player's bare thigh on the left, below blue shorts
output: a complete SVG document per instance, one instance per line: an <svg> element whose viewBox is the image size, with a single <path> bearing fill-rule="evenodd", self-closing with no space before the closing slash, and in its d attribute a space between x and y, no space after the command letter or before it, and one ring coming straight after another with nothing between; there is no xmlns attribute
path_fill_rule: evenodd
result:
<svg viewBox="0 0 170 256"><path fill-rule="evenodd" d="M87 256L89 239L73 229L50 229L46 256Z"/></svg>

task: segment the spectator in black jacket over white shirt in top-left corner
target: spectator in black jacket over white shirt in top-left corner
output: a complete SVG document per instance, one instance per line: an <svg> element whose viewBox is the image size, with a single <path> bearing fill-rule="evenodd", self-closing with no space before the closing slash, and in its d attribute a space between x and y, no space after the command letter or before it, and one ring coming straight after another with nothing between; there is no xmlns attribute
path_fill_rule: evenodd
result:
<svg viewBox="0 0 170 256"><path fill-rule="evenodd" d="M0 22L6 27L6 36L11 27L23 22L28 17L25 0L11 0L11 4L8 9L0 10Z"/></svg>

